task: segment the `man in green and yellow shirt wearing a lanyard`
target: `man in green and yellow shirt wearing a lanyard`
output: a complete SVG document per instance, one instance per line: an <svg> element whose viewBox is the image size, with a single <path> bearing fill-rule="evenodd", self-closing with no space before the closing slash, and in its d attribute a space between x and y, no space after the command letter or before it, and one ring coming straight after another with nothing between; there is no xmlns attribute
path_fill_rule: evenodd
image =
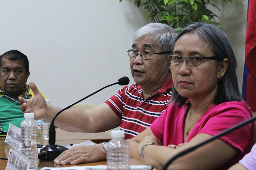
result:
<svg viewBox="0 0 256 170"><path fill-rule="evenodd" d="M29 61L26 55L17 50L0 55L0 124L4 131L8 130L9 123L20 127L24 120L18 98L34 97L34 93L26 84L29 75Z"/></svg>

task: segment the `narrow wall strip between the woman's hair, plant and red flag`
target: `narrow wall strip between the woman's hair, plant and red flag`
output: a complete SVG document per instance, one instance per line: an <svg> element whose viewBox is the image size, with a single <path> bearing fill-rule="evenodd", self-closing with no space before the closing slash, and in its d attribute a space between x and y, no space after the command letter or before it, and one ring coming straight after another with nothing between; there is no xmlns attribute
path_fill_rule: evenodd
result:
<svg viewBox="0 0 256 170"><path fill-rule="evenodd" d="M217 1L217 6L220 11L216 14L220 16L220 27L229 37L233 46L236 59L238 85L240 94L242 93L242 82L245 64L245 35L246 35L246 20L248 0L232 0L227 4L223 1Z"/></svg>

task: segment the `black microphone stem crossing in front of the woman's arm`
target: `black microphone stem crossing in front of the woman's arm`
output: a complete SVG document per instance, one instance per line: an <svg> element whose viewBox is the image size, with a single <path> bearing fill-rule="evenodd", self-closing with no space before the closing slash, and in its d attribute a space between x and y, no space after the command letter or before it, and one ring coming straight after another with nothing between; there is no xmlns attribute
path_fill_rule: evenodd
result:
<svg viewBox="0 0 256 170"><path fill-rule="evenodd" d="M226 135L227 133L229 133L229 132L231 132L231 131L233 131L233 130L239 129L240 127L245 126L246 124L249 124L250 122L254 121L255 119L256 119L256 116L255 116L255 117L252 117L252 118L250 118L250 119L248 119L248 120L246 120L246 121L242 121L241 123L239 123L239 124L237 124L237 125L235 125L235 126L233 126L233 127L231 127L231 128L228 128L228 129L224 130L222 133L219 133L218 135L213 136L213 137L211 137L210 139L205 140L204 142L201 142L201 143L199 143L199 144L197 144L197 145L195 145L195 146L192 146L192 147L190 147L190 148L187 148L187 149L184 150L184 151L181 151L180 153L178 153L178 154L174 155L173 157L171 157L171 159L168 160L167 163L164 164L162 170L166 170L166 169L168 168L168 166L169 166L174 160L176 160L178 157L180 157L180 156L182 156L182 155L184 155L184 154L187 154L187 153L189 153L189 152L195 150L196 148L199 148L200 146L205 145L205 144L207 144L207 143L213 141L213 140L216 139L216 138L219 138L219 137L221 137L221 136L223 136L223 135Z"/></svg>

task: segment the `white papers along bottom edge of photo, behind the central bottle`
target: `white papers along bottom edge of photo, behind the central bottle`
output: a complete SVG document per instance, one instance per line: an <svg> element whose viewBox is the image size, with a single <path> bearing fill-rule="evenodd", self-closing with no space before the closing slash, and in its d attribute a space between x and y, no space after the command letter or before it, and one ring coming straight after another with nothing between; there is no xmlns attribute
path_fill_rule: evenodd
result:
<svg viewBox="0 0 256 170"><path fill-rule="evenodd" d="M98 165L98 166L72 166L72 167L59 167L59 168L51 168L44 167L43 170L107 170L106 165ZM131 165L130 170L151 170L151 166L146 165Z"/></svg>

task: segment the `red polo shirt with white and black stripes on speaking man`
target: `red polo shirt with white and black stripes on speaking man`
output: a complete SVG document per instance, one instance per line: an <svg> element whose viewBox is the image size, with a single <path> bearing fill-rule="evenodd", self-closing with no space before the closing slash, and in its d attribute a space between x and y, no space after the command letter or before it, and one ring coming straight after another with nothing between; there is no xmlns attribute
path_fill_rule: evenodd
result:
<svg viewBox="0 0 256 170"><path fill-rule="evenodd" d="M149 127L168 106L171 98L172 78L150 97L143 101L142 89L132 84L120 89L105 103L122 119L120 129L125 131L125 139L131 139Z"/></svg>

